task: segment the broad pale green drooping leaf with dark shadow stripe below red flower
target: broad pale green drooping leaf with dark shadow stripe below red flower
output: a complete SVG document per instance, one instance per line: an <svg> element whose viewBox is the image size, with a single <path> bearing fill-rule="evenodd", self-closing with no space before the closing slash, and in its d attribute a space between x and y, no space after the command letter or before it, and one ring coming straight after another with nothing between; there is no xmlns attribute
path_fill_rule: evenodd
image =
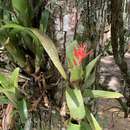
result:
<svg viewBox="0 0 130 130"><path fill-rule="evenodd" d="M74 119L83 119L85 116L85 108L81 91L77 88L67 88L66 101L70 116Z"/></svg>

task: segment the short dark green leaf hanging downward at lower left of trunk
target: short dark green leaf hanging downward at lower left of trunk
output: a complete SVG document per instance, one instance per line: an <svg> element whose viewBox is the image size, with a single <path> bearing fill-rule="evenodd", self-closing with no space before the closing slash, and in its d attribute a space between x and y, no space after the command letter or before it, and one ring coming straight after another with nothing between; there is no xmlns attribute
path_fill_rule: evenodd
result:
<svg viewBox="0 0 130 130"><path fill-rule="evenodd" d="M18 101L17 108L18 108L22 123L25 123L28 119L28 109L27 109L26 101L24 99L22 99L21 101Z"/></svg>

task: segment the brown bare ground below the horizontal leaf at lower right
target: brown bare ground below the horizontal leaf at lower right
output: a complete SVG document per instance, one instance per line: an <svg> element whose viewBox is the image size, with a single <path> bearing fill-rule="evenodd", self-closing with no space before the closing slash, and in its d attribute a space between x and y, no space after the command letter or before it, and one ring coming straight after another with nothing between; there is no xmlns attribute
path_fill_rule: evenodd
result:
<svg viewBox="0 0 130 130"><path fill-rule="evenodd" d="M124 118L124 112L116 100L98 101L99 123L103 130L130 130L130 117Z"/></svg>

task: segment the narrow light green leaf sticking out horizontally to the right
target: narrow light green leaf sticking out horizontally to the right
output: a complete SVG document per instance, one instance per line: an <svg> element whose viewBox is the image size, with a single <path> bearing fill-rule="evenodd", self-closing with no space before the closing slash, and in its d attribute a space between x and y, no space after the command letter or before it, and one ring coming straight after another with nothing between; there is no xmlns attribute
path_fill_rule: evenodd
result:
<svg viewBox="0 0 130 130"><path fill-rule="evenodd" d="M123 95L118 92L90 90L90 89L86 89L83 95L87 97L92 97L92 98L121 98L123 97Z"/></svg>

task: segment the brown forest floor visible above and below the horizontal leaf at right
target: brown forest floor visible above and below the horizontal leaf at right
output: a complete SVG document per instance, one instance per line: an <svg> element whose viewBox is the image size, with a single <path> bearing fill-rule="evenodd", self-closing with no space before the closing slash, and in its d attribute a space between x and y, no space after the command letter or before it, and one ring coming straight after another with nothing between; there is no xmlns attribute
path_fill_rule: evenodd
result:
<svg viewBox="0 0 130 130"><path fill-rule="evenodd" d="M130 70L130 53L125 54L125 60ZM113 56L106 56L101 59L100 83L103 87L114 91L122 91L123 82L119 68L114 62ZM100 99L98 101L99 122L103 130L130 130L130 116L124 118L117 100Z"/></svg>

